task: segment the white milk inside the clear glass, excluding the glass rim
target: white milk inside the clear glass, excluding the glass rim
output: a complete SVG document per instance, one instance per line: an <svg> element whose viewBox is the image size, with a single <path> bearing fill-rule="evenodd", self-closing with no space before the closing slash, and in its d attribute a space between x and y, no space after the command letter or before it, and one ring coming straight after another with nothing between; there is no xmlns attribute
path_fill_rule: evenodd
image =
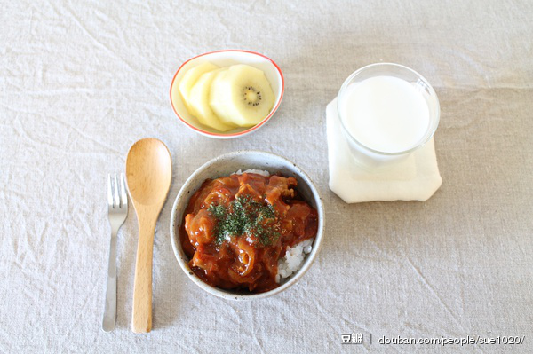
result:
<svg viewBox="0 0 533 354"><path fill-rule="evenodd" d="M375 76L346 87L338 109L350 135L363 146L399 153L417 146L429 127L421 90L393 76Z"/></svg>

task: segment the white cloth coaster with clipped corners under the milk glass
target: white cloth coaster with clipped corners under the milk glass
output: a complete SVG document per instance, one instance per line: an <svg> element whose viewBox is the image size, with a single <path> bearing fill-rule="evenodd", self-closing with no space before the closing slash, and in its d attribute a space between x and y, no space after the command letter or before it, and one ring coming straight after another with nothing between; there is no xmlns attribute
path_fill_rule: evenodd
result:
<svg viewBox="0 0 533 354"><path fill-rule="evenodd" d="M434 139L410 156L379 169L354 161L342 133L337 98L326 108L330 190L346 203L363 201L427 201L442 185Z"/></svg>

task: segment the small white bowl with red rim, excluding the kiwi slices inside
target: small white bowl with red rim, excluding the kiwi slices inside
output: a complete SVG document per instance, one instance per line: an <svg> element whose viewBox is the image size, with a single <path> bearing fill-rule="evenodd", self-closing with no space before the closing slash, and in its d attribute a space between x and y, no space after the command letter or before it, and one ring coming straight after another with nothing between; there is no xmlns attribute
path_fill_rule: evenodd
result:
<svg viewBox="0 0 533 354"><path fill-rule="evenodd" d="M246 64L262 70L265 73L265 76L267 76L267 80L270 82L270 86L274 91L274 106L270 110L270 113L252 127L237 127L224 132L215 130L199 122L198 119L187 110L187 106L179 93L179 83L190 68L205 62L211 62L219 67ZM201 54L193 59L188 59L183 65L181 65L181 67L179 67L171 83L171 105L181 122L184 122L187 127L205 137L221 139L238 138L258 130L259 127L263 126L270 118L272 118L282 102L284 86L285 84L280 67L278 67L272 59L269 59L262 54L253 51L239 50L211 51L209 53Z"/></svg>

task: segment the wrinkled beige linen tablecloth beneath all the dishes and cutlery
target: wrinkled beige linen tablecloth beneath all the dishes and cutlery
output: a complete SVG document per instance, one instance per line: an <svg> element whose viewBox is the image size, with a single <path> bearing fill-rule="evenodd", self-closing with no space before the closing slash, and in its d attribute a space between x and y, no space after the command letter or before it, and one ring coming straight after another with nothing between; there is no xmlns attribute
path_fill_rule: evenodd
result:
<svg viewBox="0 0 533 354"><path fill-rule="evenodd" d="M533 351L530 1L2 3L1 352ZM274 59L286 90L264 128L221 141L179 122L169 87L182 62L227 48ZM443 183L427 202L348 205L327 187L325 106L354 70L381 61L425 75L441 100ZM155 235L154 330L130 330L131 208L106 334L106 176L145 137L162 139L174 163ZM187 279L169 222L195 169L243 149L305 169L327 228L295 287L235 303ZM522 343L380 343L467 336Z"/></svg>

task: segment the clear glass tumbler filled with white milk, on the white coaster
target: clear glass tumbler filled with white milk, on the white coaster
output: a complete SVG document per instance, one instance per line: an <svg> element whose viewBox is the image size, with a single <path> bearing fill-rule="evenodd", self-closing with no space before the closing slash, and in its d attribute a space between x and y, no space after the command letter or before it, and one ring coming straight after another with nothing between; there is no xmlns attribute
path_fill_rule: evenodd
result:
<svg viewBox="0 0 533 354"><path fill-rule="evenodd" d="M439 99L422 75L399 64L372 64L338 91L338 116L357 162L367 167L402 161L424 146L439 125Z"/></svg>

